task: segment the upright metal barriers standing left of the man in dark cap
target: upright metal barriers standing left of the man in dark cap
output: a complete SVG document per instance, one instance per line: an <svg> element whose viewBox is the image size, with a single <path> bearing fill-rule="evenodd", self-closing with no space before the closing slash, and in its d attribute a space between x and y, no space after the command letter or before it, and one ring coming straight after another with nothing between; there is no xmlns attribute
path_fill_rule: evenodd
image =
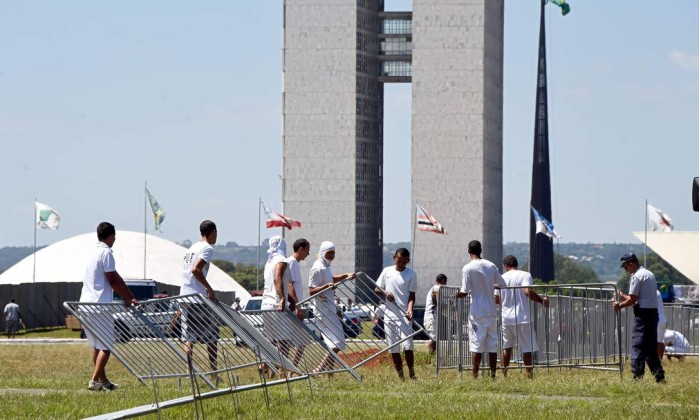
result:
<svg viewBox="0 0 699 420"><path fill-rule="evenodd" d="M504 289L521 289L508 287ZM537 343L536 366L614 370L623 369L622 337L631 329L611 301L616 287L608 284L536 285L537 292L549 299L549 306L527 299L531 314L530 337ZM469 298L456 297L459 288L443 286L437 299L436 370L471 367L469 350ZM628 315L628 314L625 314ZM626 317L628 318L628 317ZM502 351L502 318L498 313L498 354ZM516 323L515 323L516 325ZM628 347L627 347L628 348ZM521 359L511 368L525 367Z"/></svg>

